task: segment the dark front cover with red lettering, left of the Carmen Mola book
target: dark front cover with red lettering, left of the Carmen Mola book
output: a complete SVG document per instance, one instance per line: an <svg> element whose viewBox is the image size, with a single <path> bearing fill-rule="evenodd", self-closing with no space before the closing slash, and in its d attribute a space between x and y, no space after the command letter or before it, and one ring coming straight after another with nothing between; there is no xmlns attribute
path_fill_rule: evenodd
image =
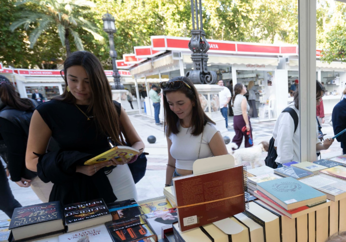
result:
<svg viewBox="0 0 346 242"><path fill-rule="evenodd" d="M51 220L62 220L60 202L41 203L25 207L17 207L13 212L9 229L37 224Z"/></svg>

